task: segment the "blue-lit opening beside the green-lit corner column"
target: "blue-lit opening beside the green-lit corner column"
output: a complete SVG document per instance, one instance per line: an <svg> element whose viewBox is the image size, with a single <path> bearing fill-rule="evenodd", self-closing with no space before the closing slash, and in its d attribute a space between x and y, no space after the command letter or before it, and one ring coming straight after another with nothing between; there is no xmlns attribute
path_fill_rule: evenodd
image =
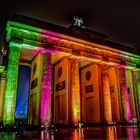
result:
<svg viewBox="0 0 140 140"><path fill-rule="evenodd" d="M19 66L18 89L16 98L15 117L26 119L28 115L28 96L30 89L31 68L28 66Z"/></svg>

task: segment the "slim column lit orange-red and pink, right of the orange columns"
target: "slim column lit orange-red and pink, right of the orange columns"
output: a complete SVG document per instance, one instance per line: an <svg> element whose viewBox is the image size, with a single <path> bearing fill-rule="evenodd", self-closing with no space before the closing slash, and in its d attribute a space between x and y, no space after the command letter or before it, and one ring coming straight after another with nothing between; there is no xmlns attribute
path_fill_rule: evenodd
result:
<svg viewBox="0 0 140 140"><path fill-rule="evenodd" d="M129 122L131 117L129 97L128 97L128 87L126 83L125 69L120 67L119 72L119 81L120 81L120 96L122 101L122 110L124 121Z"/></svg>

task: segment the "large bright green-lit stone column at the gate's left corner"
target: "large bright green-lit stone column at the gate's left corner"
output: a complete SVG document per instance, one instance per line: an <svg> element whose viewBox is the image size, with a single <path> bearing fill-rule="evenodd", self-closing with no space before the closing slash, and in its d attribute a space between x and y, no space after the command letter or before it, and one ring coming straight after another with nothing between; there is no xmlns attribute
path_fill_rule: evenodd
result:
<svg viewBox="0 0 140 140"><path fill-rule="evenodd" d="M14 125L15 105L18 82L18 66L20 48L16 45L9 47L9 61L6 76L6 90L4 96L3 125Z"/></svg>

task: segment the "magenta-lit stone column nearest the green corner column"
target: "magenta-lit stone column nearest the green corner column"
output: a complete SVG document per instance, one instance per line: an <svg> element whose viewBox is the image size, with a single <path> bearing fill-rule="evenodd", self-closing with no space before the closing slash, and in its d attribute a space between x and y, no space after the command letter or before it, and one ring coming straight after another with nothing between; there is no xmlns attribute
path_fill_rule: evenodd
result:
<svg viewBox="0 0 140 140"><path fill-rule="evenodd" d="M41 83L41 124L50 124L51 119L51 54L43 54Z"/></svg>

